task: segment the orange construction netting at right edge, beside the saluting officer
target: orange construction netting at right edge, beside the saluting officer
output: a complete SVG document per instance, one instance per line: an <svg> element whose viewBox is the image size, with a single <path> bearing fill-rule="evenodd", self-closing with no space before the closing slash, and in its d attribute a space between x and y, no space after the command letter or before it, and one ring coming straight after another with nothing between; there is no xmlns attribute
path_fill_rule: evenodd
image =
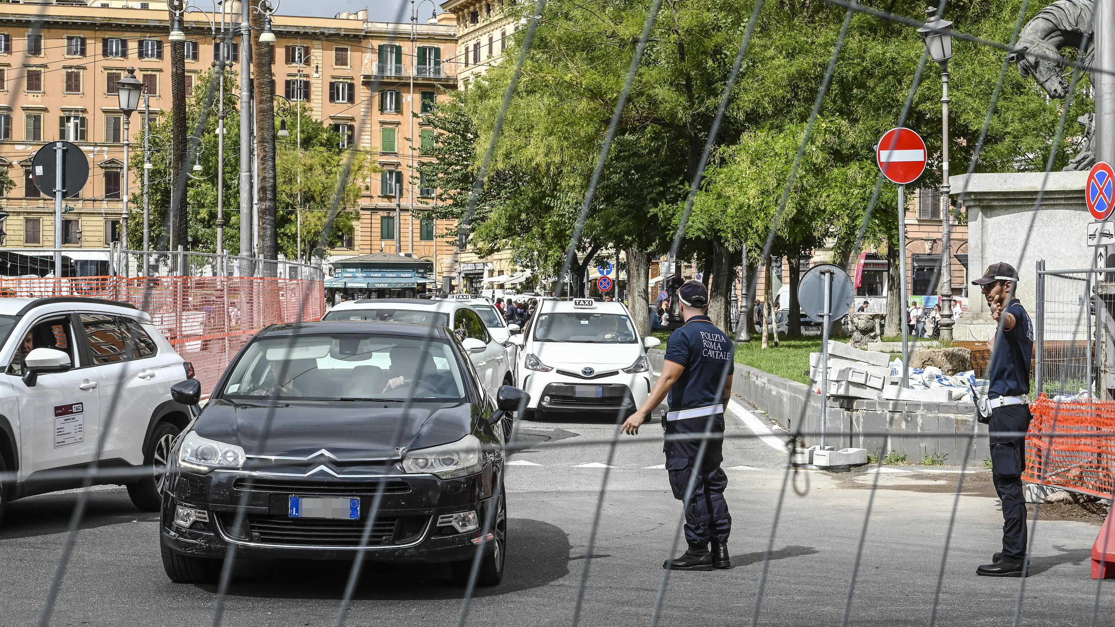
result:
<svg viewBox="0 0 1115 627"><path fill-rule="evenodd" d="M1030 403L1026 472L1030 483L1111 499L1115 490L1115 401Z"/></svg>

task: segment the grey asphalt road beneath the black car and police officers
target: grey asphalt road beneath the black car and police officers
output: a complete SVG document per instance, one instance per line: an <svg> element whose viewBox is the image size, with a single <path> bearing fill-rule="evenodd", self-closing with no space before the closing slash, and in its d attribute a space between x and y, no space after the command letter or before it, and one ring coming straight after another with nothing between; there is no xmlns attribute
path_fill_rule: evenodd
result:
<svg viewBox="0 0 1115 627"><path fill-rule="evenodd" d="M614 427L607 418L532 422L522 428L527 442L563 446L537 446L513 456L506 576L501 586L478 591L468 624L568 625L588 565L582 625L649 625L679 515L666 471L653 467L663 462L661 427L648 425L638 437L624 437L613 469L600 467L608 461L607 445L580 444L610 436ZM738 416L728 417L728 431L752 433ZM733 568L671 573L662 625L749 623L786 476L784 464L784 454L762 440L726 442ZM586 562L605 470L597 546ZM889 470L893 472L880 475L876 491L871 490L875 474L862 470L792 475L760 624L840 624L872 493L849 624L927 624L957 474L948 466ZM988 484L986 474L977 473L966 483L970 492L960 499L939 625L1010 625L1014 618L1022 580L975 575L976 566L999 549L1001 517ZM75 501L69 492L9 505L0 528L0 627L36 621ZM1097 589L1089 578L1089 551L1098 529L1086 521L1038 523L1021 624L1089 624ZM333 625L347 573L346 563L242 562L223 624ZM1111 585L1102 591L1098 625L1115 625ZM455 625L462 595L444 567L370 565L347 624ZM213 586L172 583L159 560L156 515L134 509L123 489L101 488L89 501L51 623L194 627L212 623L215 600Z"/></svg>

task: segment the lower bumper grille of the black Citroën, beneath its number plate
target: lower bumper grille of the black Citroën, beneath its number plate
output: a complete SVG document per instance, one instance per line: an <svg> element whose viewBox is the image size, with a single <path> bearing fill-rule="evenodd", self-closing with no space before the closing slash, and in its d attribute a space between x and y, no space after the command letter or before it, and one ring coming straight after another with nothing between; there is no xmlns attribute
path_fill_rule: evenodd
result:
<svg viewBox="0 0 1115 627"><path fill-rule="evenodd" d="M220 515L225 533L236 540L288 547L357 548L366 520L297 519L249 514L248 533L235 532L235 513ZM429 517L377 517L367 547L389 547L414 542L429 523Z"/></svg>

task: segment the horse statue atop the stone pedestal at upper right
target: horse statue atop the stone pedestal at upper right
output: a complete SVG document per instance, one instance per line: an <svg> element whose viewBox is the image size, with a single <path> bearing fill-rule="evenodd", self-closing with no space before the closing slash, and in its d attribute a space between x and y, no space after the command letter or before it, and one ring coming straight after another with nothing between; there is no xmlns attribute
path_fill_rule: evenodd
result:
<svg viewBox="0 0 1115 627"><path fill-rule="evenodd" d="M1022 78L1034 77L1034 80L1045 89L1050 98L1064 98L1068 91L1069 74L1064 71L1064 65L1058 62L1061 48L1079 48L1085 35L1088 46L1080 51L1079 59L1090 64L1093 55L1092 37L1092 3L1093 0L1057 0L1038 11L1019 33L1016 48L1010 60L1018 64L1018 74ZM1094 114L1080 116L1077 122L1084 125L1084 144L1080 153L1065 166L1066 171L1090 170L1095 164L1092 154L1092 136L1095 131Z"/></svg>

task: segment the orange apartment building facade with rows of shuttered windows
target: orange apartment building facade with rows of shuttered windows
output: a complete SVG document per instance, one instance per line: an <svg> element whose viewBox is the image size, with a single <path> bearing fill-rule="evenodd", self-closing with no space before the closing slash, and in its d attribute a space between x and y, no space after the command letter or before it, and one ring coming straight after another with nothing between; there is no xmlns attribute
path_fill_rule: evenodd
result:
<svg viewBox="0 0 1115 627"><path fill-rule="evenodd" d="M16 183L0 199L9 214L0 245L55 245L54 203L31 182L31 157L55 139L76 143L89 157L85 189L66 201L71 210L64 214L61 245L100 248L118 241L123 196L136 192L142 171L132 170L125 190L116 81L134 67L151 96L152 115L167 115L171 108L165 3L163 10L138 6L8 4L11 10L0 15L0 167ZM356 143L382 168L362 182L355 237L331 250L330 258L382 250L440 267L440 258L452 251L437 235L452 223L421 219L433 190L424 186L414 167L429 158L421 155L421 142L433 142L433 129L421 116L456 88L455 27L418 25L411 40L409 23L369 22L360 11L337 18L275 16L272 28L278 41L269 78L275 81L277 95L306 100L308 115L337 131L342 146ZM195 12L186 15L184 30L187 91L222 54L240 69L239 37L222 51L209 17ZM226 88L237 90L235 85ZM297 122L287 122L293 134ZM142 116L133 115L133 154L142 149ZM236 158L234 152L226 158ZM396 204L401 210L398 220ZM401 231L400 250L396 229Z"/></svg>

